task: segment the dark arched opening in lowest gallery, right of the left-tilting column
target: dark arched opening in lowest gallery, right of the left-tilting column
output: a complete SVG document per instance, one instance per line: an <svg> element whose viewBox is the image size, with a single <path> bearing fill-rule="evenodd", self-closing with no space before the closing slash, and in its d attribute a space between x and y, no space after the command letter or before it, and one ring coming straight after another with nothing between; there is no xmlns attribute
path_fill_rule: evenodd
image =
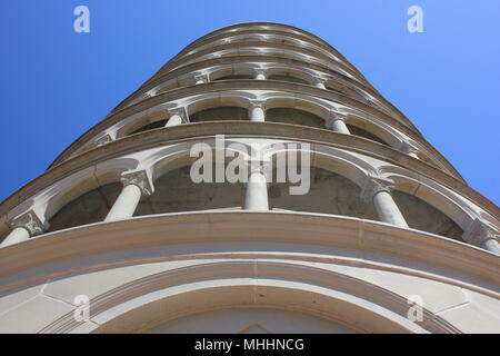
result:
<svg viewBox="0 0 500 356"><path fill-rule="evenodd" d="M411 228L462 240L463 230L430 204L399 190L392 197Z"/></svg>

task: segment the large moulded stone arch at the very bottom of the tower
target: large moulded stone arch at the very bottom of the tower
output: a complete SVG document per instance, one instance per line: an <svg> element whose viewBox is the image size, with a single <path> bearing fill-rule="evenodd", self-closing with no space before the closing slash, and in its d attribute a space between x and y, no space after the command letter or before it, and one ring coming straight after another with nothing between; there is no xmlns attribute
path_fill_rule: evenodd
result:
<svg viewBox="0 0 500 356"><path fill-rule="evenodd" d="M176 288L179 285L183 288ZM184 316L238 307L304 313L360 333L419 328L459 333L426 307L421 322L409 320L404 288L389 290L349 273L291 260L237 259L178 267L132 279L90 300L90 310L96 310L91 318L99 319L92 333L147 332ZM72 316L71 312L54 319L41 333L78 333Z"/></svg>

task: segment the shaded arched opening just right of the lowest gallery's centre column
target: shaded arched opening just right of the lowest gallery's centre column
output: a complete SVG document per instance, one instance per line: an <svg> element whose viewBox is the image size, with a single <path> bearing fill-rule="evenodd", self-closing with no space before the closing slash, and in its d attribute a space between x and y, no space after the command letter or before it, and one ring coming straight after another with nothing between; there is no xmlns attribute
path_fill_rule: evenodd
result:
<svg viewBox="0 0 500 356"><path fill-rule="evenodd" d="M273 177L277 177L277 169L273 170ZM310 167L310 189L304 195L291 195L289 190L291 186L298 184L287 181L269 185L271 208L378 220L374 207L361 200L361 189L350 179L333 171Z"/></svg>

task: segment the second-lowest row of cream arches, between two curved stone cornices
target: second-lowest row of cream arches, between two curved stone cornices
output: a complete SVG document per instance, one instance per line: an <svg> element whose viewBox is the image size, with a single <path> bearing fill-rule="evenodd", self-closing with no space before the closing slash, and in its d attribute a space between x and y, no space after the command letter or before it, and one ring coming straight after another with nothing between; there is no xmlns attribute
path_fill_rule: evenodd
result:
<svg viewBox="0 0 500 356"><path fill-rule="evenodd" d="M81 150L96 146L102 137L109 140L119 139L133 134L164 127L172 115L179 113L184 123L196 123L217 120L249 120L256 102L262 103L267 122L281 122L301 125L314 128L328 128L333 116L344 116L344 122L350 134L386 145L396 150L409 154L412 149L414 156L448 171L448 169L421 145L408 136L362 112L349 107L334 106L322 99L310 97L290 97L280 92L266 91L230 91L206 93L183 98L176 106L174 102L157 106L147 112L140 112L128 119L117 122L104 134L89 142ZM180 107L179 107L180 105ZM222 132L221 132L222 134ZM77 151L79 152L79 151Z"/></svg>

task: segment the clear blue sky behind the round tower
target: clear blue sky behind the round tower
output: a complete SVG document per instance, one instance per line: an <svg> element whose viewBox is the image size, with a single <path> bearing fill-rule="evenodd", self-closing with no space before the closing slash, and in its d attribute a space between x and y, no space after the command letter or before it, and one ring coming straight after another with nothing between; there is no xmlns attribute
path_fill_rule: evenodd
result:
<svg viewBox="0 0 500 356"><path fill-rule="evenodd" d="M90 9L90 33L73 9ZM407 10L423 9L423 33ZM498 0L11 0L0 6L0 200L197 38L247 21L310 31L500 204Z"/></svg>

